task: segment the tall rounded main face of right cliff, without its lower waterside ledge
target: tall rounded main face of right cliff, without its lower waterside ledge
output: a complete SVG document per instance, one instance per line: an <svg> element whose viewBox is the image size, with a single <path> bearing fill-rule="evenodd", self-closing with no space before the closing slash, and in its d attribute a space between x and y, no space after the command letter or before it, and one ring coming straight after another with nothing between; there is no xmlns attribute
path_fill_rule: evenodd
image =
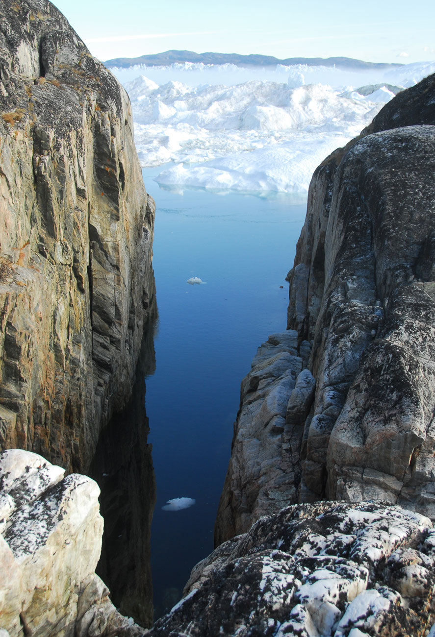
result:
<svg viewBox="0 0 435 637"><path fill-rule="evenodd" d="M313 341L316 378L299 497L434 518L435 129L369 134L336 164L314 176L290 282L289 327Z"/></svg>

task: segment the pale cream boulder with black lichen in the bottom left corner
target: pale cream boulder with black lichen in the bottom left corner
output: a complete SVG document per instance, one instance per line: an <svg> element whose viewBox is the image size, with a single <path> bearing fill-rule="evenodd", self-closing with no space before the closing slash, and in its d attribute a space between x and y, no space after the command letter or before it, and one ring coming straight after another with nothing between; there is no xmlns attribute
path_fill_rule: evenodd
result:
<svg viewBox="0 0 435 637"><path fill-rule="evenodd" d="M11 449L0 454L0 487L1 637L142 634L94 573L103 534L98 485Z"/></svg>

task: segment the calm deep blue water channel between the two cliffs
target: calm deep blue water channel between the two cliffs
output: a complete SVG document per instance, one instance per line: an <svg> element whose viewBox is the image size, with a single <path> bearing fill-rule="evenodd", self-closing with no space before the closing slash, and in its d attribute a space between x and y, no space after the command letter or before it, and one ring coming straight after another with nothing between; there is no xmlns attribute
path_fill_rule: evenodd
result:
<svg viewBox="0 0 435 637"><path fill-rule="evenodd" d="M306 212L306 203L290 196L161 190L152 181L160 169L144 169L157 206L159 324L146 396L157 483L151 529L156 618L213 549L240 381L258 345L286 329L284 279ZM206 283L188 285L193 276ZM163 511L175 497L196 504Z"/></svg>

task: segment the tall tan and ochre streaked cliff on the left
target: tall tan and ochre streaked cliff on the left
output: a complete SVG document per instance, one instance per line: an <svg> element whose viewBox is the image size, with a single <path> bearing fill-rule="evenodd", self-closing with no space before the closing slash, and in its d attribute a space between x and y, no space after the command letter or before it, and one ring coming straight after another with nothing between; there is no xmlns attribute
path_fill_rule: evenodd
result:
<svg viewBox="0 0 435 637"><path fill-rule="evenodd" d="M133 384L154 204L128 96L63 15L0 21L0 443L83 470Z"/></svg>

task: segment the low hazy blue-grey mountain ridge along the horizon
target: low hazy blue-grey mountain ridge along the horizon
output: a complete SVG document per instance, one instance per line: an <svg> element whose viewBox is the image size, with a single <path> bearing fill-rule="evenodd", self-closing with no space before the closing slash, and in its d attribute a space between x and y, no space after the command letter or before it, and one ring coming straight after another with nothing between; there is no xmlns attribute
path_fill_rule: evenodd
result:
<svg viewBox="0 0 435 637"><path fill-rule="evenodd" d="M139 57L115 57L104 62L105 66L128 68L136 64L144 66L166 66L174 62L196 62L203 64L235 64L235 66L276 66L284 64L308 64L309 66L337 66L339 68L358 69L387 69L403 64L389 64L387 62L364 62L354 60L351 57L288 57L280 60L272 55L239 55L237 53L195 53L194 51L170 50L165 53L153 55L140 55Z"/></svg>

